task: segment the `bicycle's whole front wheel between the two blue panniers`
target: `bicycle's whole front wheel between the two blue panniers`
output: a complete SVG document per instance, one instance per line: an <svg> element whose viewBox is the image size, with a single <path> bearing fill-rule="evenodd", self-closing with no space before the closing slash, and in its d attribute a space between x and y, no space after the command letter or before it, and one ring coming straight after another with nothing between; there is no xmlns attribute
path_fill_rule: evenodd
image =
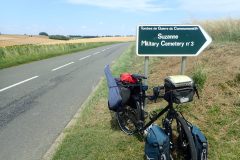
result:
<svg viewBox="0 0 240 160"><path fill-rule="evenodd" d="M176 116L177 122L177 148L183 153L183 159L197 160L197 151L187 122L179 114Z"/></svg>

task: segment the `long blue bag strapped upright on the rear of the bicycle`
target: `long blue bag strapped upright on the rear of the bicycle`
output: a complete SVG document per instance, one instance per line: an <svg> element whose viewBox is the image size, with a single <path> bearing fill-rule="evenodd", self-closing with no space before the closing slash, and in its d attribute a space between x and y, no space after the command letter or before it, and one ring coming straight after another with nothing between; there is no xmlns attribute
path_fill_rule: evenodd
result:
<svg viewBox="0 0 240 160"><path fill-rule="evenodd" d="M105 76L108 84L108 108L112 111L118 111L122 106L122 97L120 94L119 87L112 76L109 65L104 69Z"/></svg>

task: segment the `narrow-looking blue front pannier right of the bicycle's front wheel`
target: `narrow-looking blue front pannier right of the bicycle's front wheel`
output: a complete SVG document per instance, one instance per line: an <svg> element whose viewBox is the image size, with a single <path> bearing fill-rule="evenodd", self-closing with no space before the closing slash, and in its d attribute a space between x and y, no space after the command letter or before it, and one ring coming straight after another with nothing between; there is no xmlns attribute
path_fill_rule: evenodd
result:
<svg viewBox="0 0 240 160"><path fill-rule="evenodd" d="M197 150L197 159L198 160L207 160L208 154L208 142L207 138L200 131L200 129L194 125L191 126L193 140L195 142L195 147Z"/></svg>

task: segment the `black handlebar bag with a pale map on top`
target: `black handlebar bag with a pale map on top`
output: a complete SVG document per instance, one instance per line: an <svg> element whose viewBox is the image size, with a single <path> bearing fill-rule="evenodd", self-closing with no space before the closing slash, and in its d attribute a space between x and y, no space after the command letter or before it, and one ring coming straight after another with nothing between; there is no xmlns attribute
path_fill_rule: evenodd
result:
<svg viewBox="0 0 240 160"><path fill-rule="evenodd" d="M184 75L169 76L164 80L164 99L172 103L186 103L193 100L196 87L193 80Z"/></svg>

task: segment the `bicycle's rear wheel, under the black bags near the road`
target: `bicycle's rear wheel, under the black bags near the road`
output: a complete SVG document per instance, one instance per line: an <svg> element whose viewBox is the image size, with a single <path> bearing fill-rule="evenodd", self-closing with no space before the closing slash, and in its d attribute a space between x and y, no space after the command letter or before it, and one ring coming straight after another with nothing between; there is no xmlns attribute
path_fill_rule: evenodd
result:
<svg viewBox="0 0 240 160"><path fill-rule="evenodd" d="M141 116L141 106L138 101L135 102L135 107L125 105L121 111L116 112L115 116L124 133L133 135L139 131L138 121Z"/></svg>

